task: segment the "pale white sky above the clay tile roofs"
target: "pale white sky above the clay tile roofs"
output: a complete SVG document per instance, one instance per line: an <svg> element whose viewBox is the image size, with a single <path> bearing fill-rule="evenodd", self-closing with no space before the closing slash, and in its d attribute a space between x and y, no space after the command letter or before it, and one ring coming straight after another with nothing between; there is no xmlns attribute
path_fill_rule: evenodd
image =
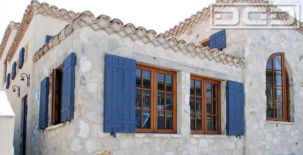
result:
<svg viewBox="0 0 303 155"><path fill-rule="evenodd" d="M95 17L108 15L118 18L124 24L132 23L163 33L179 22L189 18L197 11L208 7L215 0L108 0L108 1L75 1L75 0L38 0L59 9L72 10L75 13L90 11ZM21 22L30 0L0 0L0 41L10 21Z"/></svg>

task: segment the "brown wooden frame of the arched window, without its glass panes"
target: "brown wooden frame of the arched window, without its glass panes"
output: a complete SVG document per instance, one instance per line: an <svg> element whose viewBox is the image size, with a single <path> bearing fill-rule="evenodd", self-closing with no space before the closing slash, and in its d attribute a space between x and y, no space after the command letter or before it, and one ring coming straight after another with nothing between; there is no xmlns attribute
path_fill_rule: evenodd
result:
<svg viewBox="0 0 303 155"><path fill-rule="evenodd" d="M277 57L277 56L281 56L281 70L279 70L279 69L274 69L273 67L271 68L271 69L267 69L267 64L269 63L269 61L270 60L272 60L272 65L273 65L273 58L274 57ZM286 70L286 67L285 67L285 62L284 62L284 53L276 53L276 54L273 54L273 55L271 55L269 58L268 58L268 60L267 60L267 63L266 63L266 71L282 71L282 85L280 86L280 85L274 85L274 72L273 72L273 77L272 77L272 85L270 85L270 84L266 84L266 86L272 86L273 87L273 92L272 92L272 94L273 94L273 100L272 101L268 101L267 99L266 99L266 105L268 104L268 102L271 102L272 104L273 104L273 115L274 115L274 112L275 112L275 106L274 106L274 104L276 103L276 102L280 102L280 101L275 101L275 94L274 94L274 87L275 86L279 86L279 87L282 87L282 106L283 106L283 117L282 118L269 118L269 117L267 117L267 115L266 115L266 120L268 120L268 121L284 121L284 122L286 122L286 121L290 121L290 100L289 100L289 91L288 91L288 98L286 98L286 89L288 89L289 90L289 84L288 84L288 86L286 86L286 78L288 79L288 75L286 75L287 73L287 70ZM289 82L289 79L288 79L288 82ZM288 87L288 88L286 88L286 87ZM287 107L288 107L288 114L289 114L289 117L288 118L286 118L286 100L288 100L288 105L287 105ZM266 106L267 107L267 106ZM267 111L267 109L266 109L266 111Z"/></svg>

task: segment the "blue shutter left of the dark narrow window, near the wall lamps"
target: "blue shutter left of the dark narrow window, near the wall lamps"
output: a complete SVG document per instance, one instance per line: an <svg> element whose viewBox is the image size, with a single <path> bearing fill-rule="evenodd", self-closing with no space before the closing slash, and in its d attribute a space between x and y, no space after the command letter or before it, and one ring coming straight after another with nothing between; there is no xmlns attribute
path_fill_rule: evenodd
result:
<svg viewBox="0 0 303 155"><path fill-rule="evenodd" d="M45 129L48 125L48 92L49 77L45 77L40 85L39 129Z"/></svg>

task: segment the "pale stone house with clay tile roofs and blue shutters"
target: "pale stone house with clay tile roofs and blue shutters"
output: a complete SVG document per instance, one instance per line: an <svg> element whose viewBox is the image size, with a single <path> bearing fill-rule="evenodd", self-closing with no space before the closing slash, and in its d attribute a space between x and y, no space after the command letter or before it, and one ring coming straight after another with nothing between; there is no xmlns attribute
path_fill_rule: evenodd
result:
<svg viewBox="0 0 303 155"><path fill-rule="evenodd" d="M0 46L15 152L303 154L302 24L212 29L209 7L157 34L33 0Z"/></svg>

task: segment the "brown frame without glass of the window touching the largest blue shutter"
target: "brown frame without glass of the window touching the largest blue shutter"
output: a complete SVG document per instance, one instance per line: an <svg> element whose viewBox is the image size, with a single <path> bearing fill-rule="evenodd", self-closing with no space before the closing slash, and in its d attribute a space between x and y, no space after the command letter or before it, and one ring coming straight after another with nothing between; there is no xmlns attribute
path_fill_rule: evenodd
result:
<svg viewBox="0 0 303 155"><path fill-rule="evenodd" d="M137 69L141 69L141 87L136 87L137 89L141 90L141 108L136 108L136 110L150 110L150 129L139 129L136 128L135 131L138 133L177 133L177 74L176 72L173 71L168 71L168 70L163 70L163 69L158 69L158 68L154 68L154 67L148 67L148 66L144 66L144 65L136 65ZM143 88L143 70L146 71L150 71L150 89L147 88ZM173 90L172 90L172 94L173 94L173 110L172 111L168 111L168 110L158 110L158 73L161 74L169 74L173 76L173 82L172 82L172 86L173 86ZM165 76L166 77L166 76ZM166 90L166 82L164 82L164 87ZM144 109L142 107L142 102L143 102L143 91L142 90L149 90L150 91L150 109ZM161 92L166 92L166 91L161 91ZM166 93L165 96L166 97ZM164 100L164 106L166 105L166 98ZM158 112L172 112L173 116L173 129L158 129L158 121L157 121L157 116L158 116ZM142 127L142 112L141 114L141 127ZM166 116L166 114L165 114ZM166 118L164 116L164 121L166 122ZM164 123L165 128L166 128L166 123Z"/></svg>

